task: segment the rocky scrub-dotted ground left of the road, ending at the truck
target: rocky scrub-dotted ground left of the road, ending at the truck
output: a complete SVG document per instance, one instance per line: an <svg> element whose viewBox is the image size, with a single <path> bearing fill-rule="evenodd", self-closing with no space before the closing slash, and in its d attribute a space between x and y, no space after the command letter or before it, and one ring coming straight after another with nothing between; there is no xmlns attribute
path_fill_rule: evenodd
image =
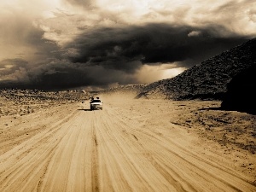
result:
<svg viewBox="0 0 256 192"><path fill-rule="evenodd" d="M83 90L0 90L0 118L5 115L22 116L55 105L75 103L89 99L90 93Z"/></svg>

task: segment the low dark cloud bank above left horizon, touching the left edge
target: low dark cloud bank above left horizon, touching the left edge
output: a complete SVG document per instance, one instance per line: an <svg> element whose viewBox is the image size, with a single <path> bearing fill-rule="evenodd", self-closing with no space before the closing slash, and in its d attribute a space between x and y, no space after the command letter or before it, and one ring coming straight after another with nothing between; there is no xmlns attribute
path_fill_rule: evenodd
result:
<svg viewBox="0 0 256 192"><path fill-rule="evenodd" d="M137 83L132 75L124 72L104 69L101 66L86 66L84 63L51 61L36 63L31 67L20 59L0 62L0 88L20 88L38 90L67 90L81 86L106 88L109 84Z"/></svg>

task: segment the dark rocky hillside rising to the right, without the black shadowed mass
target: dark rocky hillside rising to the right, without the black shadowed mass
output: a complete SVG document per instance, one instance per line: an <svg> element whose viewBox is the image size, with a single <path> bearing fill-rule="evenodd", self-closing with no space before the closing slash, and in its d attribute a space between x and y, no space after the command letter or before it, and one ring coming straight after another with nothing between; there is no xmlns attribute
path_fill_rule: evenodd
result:
<svg viewBox="0 0 256 192"><path fill-rule="evenodd" d="M172 79L148 84L137 98L223 100L231 79L255 65L256 38L253 38L189 68Z"/></svg>

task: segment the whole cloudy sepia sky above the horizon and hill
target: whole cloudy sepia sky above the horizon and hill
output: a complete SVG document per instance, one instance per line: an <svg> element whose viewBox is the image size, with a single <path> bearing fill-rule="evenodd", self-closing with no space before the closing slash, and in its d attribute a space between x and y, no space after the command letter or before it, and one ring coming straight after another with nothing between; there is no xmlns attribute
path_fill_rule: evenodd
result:
<svg viewBox="0 0 256 192"><path fill-rule="evenodd" d="M0 0L0 88L149 84L255 37L253 0Z"/></svg>

